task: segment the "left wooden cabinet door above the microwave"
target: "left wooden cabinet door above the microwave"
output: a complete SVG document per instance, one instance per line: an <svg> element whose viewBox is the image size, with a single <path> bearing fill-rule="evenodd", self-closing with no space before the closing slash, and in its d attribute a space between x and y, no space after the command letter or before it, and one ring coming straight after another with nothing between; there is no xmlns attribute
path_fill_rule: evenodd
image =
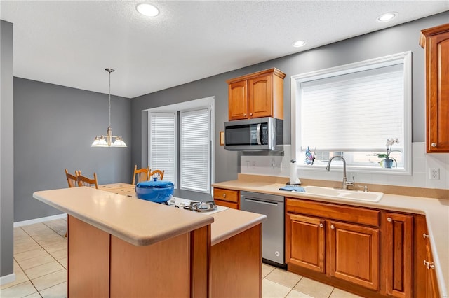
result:
<svg viewBox="0 0 449 298"><path fill-rule="evenodd" d="M229 120L248 118L248 81L231 83L228 86Z"/></svg>

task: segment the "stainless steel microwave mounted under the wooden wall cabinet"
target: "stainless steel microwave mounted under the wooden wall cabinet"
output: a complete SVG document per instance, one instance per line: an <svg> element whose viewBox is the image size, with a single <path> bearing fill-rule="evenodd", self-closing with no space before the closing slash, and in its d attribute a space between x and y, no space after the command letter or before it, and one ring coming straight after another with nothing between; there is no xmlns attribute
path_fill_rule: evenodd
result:
<svg viewBox="0 0 449 298"><path fill-rule="evenodd" d="M272 117L225 122L226 150L279 150L283 120Z"/></svg>

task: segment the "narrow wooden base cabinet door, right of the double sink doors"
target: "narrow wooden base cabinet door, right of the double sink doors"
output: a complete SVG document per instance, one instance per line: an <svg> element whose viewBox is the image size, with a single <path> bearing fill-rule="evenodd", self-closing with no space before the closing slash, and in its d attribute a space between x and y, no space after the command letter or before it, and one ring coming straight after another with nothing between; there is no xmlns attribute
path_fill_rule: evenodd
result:
<svg viewBox="0 0 449 298"><path fill-rule="evenodd" d="M413 216L385 213L386 233L382 246L387 258L387 294L394 297L413 297Z"/></svg>

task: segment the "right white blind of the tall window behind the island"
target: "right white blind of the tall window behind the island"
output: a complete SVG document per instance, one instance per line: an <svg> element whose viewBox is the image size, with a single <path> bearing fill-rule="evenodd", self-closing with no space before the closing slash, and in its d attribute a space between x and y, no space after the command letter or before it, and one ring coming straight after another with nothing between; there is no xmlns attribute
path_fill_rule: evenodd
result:
<svg viewBox="0 0 449 298"><path fill-rule="evenodd" d="M180 112L180 188L210 192L209 109Z"/></svg>

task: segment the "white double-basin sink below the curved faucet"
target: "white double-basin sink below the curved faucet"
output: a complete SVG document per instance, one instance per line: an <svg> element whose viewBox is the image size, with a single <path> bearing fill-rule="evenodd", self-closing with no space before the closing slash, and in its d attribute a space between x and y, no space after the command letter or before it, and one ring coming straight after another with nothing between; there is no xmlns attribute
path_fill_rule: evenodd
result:
<svg viewBox="0 0 449 298"><path fill-rule="evenodd" d="M362 192L359 190L342 190L320 186L304 186L304 190L307 194L316 194L322 197L333 197L355 201L377 202L380 201L384 195L382 192Z"/></svg>

